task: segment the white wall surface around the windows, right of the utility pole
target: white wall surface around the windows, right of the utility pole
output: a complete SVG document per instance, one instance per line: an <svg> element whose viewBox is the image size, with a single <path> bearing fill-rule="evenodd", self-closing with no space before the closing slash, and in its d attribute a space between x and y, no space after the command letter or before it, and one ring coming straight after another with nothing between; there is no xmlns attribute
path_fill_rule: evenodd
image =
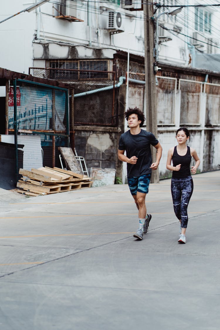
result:
<svg viewBox="0 0 220 330"><path fill-rule="evenodd" d="M161 3L171 4L171 1L161 1ZM202 0L176 0L172 1L176 5L198 5L204 4ZM220 4L220 1L217 0L213 2L212 0L205 1L205 4ZM163 8L157 10L155 16L158 16L161 12L171 12L175 8ZM193 54L199 50L204 52L207 51L207 45L202 44L204 47L196 46L194 49L190 47L192 44L192 39L189 37L193 36L194 32L198 32L198 39L203 41L204 38L211 38L218 43L220 47L220 31L219 31L219 18L220 18L220 8L219 7L205 7L204 10L211 13L212 19L212 28L211 33L200 32L195 28L195 8L194 7L185 7L182 11L176 16L171 15L161 15L159 17L159 22L169 29L173 29L175 25L181 27L181 34L177 34L173 31L164 31L165 36L171 38L171 41L163 42L159 45L159 61L170 63L170 64L181 64L183 66L193 66ZM184 36L185 35L185 36ZM188 36L188 37L187 37ZM200 42L198 42L199 44ZM220 48L214 48L214 53L220 53ZM191 63L189 63L189 54L191 56ZM196 66L196 63L194 63Z"/></svg>

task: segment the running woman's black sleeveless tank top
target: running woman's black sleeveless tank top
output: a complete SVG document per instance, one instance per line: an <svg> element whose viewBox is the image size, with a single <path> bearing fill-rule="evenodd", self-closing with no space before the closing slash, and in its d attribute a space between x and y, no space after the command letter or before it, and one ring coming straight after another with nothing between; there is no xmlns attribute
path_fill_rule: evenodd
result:
<svg viewBox="0 0 220 330"><path fill-rule="evenodd" d="M177 153L176 146L174 147L172 161L173 166L181 164L179 171L173 171L172 178L183 179L191 175L190 173L190 163L192 156L190 154L190 147L187 146L187 152L184 156L180 156Z"/></svg>

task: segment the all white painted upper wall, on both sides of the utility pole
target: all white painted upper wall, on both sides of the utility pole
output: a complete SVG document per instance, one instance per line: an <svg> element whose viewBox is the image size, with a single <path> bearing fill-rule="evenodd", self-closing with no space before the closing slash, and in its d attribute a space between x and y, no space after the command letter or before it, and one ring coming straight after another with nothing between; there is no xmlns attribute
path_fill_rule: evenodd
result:
<svg viewBox="0 0 220 330"><path fill-rule="evenodd" d="M17 12L29 7L38 0L10 0L4 1L0 19L5 19ZM140 6L140 1L134 1ZM67 48L66 45L82 45L88 47L82 48L81 58L92 56L92 49L112 49L112 53L116 49L127 51L128 45L130 53L144 56L144 30L143 30L143 12L128 11L118 5L110 2L101 1L75 1L77 3L77 16L83 22L69 22L55 18L60 15L58 13L58 4L48 2L30 13L21 13L0 24L0 42L1 55L0 66L13 71L28 73L28 68L33 63L33 45L32 41L36 39L36 34L40 36L39 40L34 40L34 54L38 53L36 59L41 59L42 47L36 43L51 43L49 45L50 52L54 58L65 58ZM74 3L74 2L73 2ZM164 1L161 1L164 3ZM174 1L172 1L174 3ZM202 0L176 0L177 5L194 5L204 3ZM212 0L207 0L207 4L212 4ZM220 3L220 0L215 1ZM165 4L171 4L165 1ZM204 33L205 37L211 37L215 40L220 39L219 18L220 8L207 7L212 14L212 31L211 34ZM89 13L88 13L89 9ZM158 9L155 17L162 11L171 11L171 8ZM109 11L120 12L122 16L122 28L124 32L110 35L105 29L108 22ZM162 15L159 22L165 24L166 27L173 29L174 25L181 27L181 33L192 36L195 32L195 8L187 7L176 16ZM170 64L188 66L189 53L191 57L193 49L188 48L191 39L180 34L166 31L165 35L172 38L171 41L161 43L159 45L159 60ZM59 44L54 45L54 43ZM38 51L37 51L38 50ZM205 49L203 49L205 50ZM220 49L215 49L216 53L220 53ZM196 51L196 50L195 50ZM112 56L112 54L111 54ZM43 63L44 64L44 63Z"/></svg>

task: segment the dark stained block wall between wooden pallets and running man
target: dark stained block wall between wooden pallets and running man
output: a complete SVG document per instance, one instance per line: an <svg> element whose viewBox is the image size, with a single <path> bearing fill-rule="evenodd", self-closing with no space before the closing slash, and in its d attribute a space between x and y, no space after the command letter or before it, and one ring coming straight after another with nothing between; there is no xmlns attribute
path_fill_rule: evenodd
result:
<svg viewBox="0 0 220 330"><path fill-rule="evenodd" d="M122 85L115 91L115 127L95 126L95 123L101 120L104 124L108 123L108 116L111 116L112 112L112 90L99 94L92 94L81 100L76 99L75 122L82 112L85 116L84 121L90 119L92 123L75 125L75 148L78 155L85 158L89 173L91 167L112 168L116 169L117 176L122 177L122 163L118 160L117 149L119 137L124 132L126 86ZM90 102L89 108L86 108L87 101ZM94 107L91 108L91 105Z"/></svg>

